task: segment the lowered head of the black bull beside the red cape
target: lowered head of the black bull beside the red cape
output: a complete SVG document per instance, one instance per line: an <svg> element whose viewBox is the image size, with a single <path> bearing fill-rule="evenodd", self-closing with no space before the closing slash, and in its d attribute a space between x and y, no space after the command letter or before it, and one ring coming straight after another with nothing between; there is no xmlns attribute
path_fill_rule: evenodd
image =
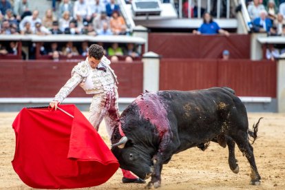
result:
<svg viewBox="0 0 285 190"><path fill-rule="evenodd" d="M151 176L153 162L149 151L140 145L135 145L127 137L112 145L112 152L120 163L120 168L127 169L139 178L147 179Z"/></svg>

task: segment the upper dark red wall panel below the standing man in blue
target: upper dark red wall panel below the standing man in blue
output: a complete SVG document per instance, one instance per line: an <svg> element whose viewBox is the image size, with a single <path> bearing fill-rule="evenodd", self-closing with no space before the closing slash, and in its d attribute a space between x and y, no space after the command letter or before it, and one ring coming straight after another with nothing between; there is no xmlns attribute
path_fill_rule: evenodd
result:
<svg viewBox="0 0 285 190"><path fill-rule="evenodd" d="M218 59L229 50L231 59L250 58L250 35L193 35L179 33L149 33L149 51L163 58Z"/></svg>

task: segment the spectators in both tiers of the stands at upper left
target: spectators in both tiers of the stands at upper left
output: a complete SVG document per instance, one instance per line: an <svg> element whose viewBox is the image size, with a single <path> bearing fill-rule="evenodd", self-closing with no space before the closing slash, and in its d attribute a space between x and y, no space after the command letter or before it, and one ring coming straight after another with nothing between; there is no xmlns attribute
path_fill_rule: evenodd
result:
<svg viewBox="0 0 285 190"><path fill-rule="evenodd" d="M120 7L115 0L61 0L59 4L52 1L52 7L45 10L42 18L39 17L39 10L31 10L30 3L31 0L0 0L1 34L90 36L128 34L127 25L120 16ZM42 43L40 54L52 56L54 60L59 60L61 56L67 58L86 56L88 45L87 42L76 46L72 42ZM113 43L104 46L106 54L114 56L114 59L116 56L126 56L129 61L138 56L134 44L119 47L118 43ZM34 59L35 48L34 43L30 44L28 59ZM0 55L3 54L17 54L17 43L0 42Z"/></svg>

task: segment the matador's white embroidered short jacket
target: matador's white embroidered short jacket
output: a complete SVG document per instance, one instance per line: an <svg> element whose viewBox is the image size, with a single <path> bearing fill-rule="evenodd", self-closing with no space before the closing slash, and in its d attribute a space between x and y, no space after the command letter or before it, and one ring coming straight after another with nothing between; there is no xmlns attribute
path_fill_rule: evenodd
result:
<svg viewBox="0 0 285 190"><path fill-rule="evenodd" d="M98 65L106 67L106 72L90 67L88 58L78 63L72 70L72 77L56 94L54 101L61 103L77 85L80 85L86 94L99 94L116 88L117 76L109 66L110 63L109 59L103 56Z"/></svg>

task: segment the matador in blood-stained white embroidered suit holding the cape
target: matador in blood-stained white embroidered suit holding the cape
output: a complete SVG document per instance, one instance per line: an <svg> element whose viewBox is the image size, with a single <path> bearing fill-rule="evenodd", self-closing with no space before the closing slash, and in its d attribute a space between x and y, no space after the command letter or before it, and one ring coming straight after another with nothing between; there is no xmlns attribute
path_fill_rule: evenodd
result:
<svg viewBox="0 0 285 190"><path fill-rule="evenodd" d="M98 131L99 125L105 118L107 134L111 140L112 133L119 126L120 113L118 110L118 81L114 70L109 66L109 59L104 56L103 47L92 44L89 47L85 61L78 63L72 70L72 77L56 94L50 102L50 107L57 108L57 105L80 85L86 94L92 94L92 103L89 108L89 122ZM145 180L132 175L130 171L123 171L124 183L136 182L145 183Z"/></svg>

